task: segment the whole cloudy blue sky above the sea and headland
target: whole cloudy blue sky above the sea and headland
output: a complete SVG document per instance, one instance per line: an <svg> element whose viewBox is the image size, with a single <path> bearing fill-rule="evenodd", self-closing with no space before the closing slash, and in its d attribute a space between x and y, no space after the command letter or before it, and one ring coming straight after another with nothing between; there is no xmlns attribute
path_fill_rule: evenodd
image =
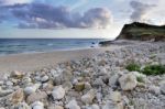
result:
<svg viewBox="0 0 165 109"><path fill-rule="evenodd" d="M165 0L0 0L0 37L114 39L131 22L165 24Z"/></svg>

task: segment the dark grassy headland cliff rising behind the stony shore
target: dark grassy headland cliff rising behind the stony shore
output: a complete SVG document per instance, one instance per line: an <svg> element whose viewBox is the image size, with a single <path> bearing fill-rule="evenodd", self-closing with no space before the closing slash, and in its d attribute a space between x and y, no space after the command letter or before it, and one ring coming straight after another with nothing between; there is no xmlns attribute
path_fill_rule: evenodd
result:
<svg viewBox="0 0 165 109"><path fill-rule="evenodd" d="M133 22L125 24L117 40L165 41L165 25Z"/></svg>

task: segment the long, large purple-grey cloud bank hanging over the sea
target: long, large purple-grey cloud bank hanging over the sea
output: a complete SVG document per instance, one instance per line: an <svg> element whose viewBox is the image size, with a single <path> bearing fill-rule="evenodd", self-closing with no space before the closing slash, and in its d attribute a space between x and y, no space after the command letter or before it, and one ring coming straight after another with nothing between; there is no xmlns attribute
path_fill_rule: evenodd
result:
<svg viewBox="0 0 165 109"><path fill-rule="evenodd" d="M68 7L53 7L45 3L12 6L11 12L20 20L19 28L65 29L65 28L97 28L110 25L112 15L107 8L95 8L74 13Z"/></svg>

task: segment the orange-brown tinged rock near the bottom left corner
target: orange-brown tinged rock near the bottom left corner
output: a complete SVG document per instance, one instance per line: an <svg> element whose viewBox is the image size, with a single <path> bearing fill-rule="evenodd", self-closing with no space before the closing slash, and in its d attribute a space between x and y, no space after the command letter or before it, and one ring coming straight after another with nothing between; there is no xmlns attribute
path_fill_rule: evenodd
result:
<svg viewBox="0 0 165 109"><path fill-rule="evenodd" d="M15 105L23 101L23 99L24 99L23 89L18 89L15 92L13 92L11 101Z"/></svg>

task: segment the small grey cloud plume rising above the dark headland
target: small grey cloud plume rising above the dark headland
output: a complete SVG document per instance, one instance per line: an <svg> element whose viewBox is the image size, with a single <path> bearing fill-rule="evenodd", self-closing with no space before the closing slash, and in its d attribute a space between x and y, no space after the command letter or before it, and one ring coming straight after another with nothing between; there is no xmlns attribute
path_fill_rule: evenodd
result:
<svg viewBox="0 0 165 109"><path fill-rule="evenodd" d="M130 19L132 21L142 21L142 22L148 21L145 19L145 17L154 7L156 7L155 4L145 4L139 1L131 1L130 6L133 9Z"/></svg>

